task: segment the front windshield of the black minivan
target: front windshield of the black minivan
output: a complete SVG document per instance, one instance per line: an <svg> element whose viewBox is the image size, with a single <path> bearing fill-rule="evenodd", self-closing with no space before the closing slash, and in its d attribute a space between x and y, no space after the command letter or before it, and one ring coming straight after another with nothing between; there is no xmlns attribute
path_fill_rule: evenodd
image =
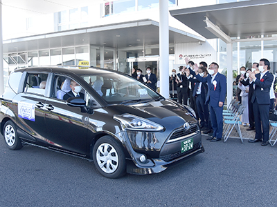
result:
<svg viewBox="0 0 277 207"><path fill-rule="evenodd" d="M84 75L82 78L109 104L141 103L161 98L148 86L125 75L106 73Z"/></svg>

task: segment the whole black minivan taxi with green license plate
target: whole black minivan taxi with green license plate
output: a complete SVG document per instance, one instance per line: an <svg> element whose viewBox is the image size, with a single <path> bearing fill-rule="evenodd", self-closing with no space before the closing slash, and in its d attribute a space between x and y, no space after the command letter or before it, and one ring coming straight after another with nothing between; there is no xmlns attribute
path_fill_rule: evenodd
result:
<svg viewBox="0 0 277 207"><path fill-rule="evenodd" d="M32 79L45 81L34 88ZM84 99L70 97L70 81ZM25 144L93 160L100 174L151 174L204 152L194 111L114 70L35 67L12 72L1 97L8 148Z"/></svg>

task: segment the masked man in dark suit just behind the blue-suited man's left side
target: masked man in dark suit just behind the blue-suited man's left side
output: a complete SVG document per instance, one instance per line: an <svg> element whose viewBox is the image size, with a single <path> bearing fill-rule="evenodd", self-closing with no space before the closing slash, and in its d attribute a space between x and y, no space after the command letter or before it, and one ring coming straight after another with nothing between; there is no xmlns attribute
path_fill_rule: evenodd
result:
<svg viewBox="0 0 277 207"><path fill-rule="evenodd" d="M200 119L200 129L202 131L208 130L208 118L209 118L209 112L208 112L208 103L206 102L206 95L208 93L208 85L206 83L200 82L198 79L192 79L190 78L190 71L186 71L186 75L188 76L188 80L191 81L191 83L195 83L195 88L193 90L193 97L195 97L196 106L197 106L197 113L198 117ZM207 77L207 69L204 66L200 66L198 69L198 74L201 77Z"/></svg>

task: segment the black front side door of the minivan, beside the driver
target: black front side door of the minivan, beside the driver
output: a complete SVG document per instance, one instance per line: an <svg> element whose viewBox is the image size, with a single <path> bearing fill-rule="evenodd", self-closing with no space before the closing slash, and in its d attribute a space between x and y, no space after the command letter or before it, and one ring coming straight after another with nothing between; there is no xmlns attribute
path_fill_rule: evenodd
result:
<svg viewBox="0 0 277 207"><path fill-rule="evenodd" d="M46 99L45 128L49 148L84 156L87 150L87 112L57 98L61 77L53 76L52 97ZM66 77L64 78L66 79Z"/></svg>

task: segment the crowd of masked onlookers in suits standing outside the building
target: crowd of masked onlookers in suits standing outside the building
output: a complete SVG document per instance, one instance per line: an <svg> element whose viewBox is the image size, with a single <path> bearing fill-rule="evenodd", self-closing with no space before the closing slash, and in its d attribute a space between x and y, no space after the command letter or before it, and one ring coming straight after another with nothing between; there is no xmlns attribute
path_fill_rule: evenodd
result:
<svg viewBox="0 0 277 207"><path fill-rule="evenodd" d="M218 64L209 66L202 61L197 63L185 59L186 66L179 66L179 71L172 70L169 77L170 99L189 105L199 119L203 133L212 142L222 139L223 105L226 97L226 77L218 72ZM249 142L262 141L262 146L269 144L269 110L274 108L274 81L270 63L260 59L253 63L251 69L240 68L240 75L233 81L233 96L246 108L241 121L247 130L256 130L254 139ZM156 90L157 77L147 68L142 75L141 69L133 69L132 76Z"/></svg>

